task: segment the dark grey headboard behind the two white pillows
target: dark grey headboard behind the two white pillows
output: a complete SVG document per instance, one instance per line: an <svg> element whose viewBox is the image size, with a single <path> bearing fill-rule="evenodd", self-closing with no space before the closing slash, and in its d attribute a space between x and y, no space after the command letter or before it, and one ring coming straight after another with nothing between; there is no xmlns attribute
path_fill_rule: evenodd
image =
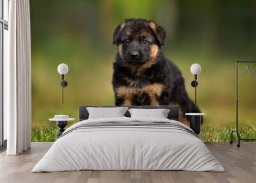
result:
<svg viewBox="0 0 256 183"><path fill-rule="evenodd" d="M80 106L79 107L79 120L87 120L89 113L86 107L118 107L118 106ZM141 109L170 109L168 113L168 119L178 120L179 119L179 107L178 106L125 106L131 108L141 108ZM131 114L127 110L124 114L126 117L131 117Z"/></svg>

